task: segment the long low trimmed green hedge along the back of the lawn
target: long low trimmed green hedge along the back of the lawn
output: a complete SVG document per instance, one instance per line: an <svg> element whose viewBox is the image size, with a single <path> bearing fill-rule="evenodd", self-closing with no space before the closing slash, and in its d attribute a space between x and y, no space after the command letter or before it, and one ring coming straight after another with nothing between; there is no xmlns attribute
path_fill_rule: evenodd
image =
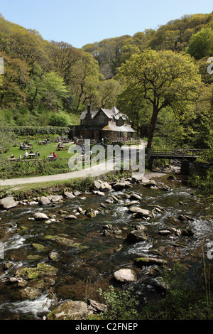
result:
<svg viewBox="0 0 213 334"><path fill-rule="evenodd" d="M2 127L0 131L1 129ZM36 134L58 134L62 136L70 132L70 128L64 126L10 126L9 129L16 136L35 136Z"/></svg>

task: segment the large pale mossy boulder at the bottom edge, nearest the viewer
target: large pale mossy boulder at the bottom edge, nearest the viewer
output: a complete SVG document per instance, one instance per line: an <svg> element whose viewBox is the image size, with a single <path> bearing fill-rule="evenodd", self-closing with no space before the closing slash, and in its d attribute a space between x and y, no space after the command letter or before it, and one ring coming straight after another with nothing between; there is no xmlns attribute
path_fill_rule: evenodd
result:
<svg viewBox="0 0 213 334"><path fill-rule="evenodd" d="M48 320L81 320L87 315L84 301L65 301L47 316Z"/></svg>

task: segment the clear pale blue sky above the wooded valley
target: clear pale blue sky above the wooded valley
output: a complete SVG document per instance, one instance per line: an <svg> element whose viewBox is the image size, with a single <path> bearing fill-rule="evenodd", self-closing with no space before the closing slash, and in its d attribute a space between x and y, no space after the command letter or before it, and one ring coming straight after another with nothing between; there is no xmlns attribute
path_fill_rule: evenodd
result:
<svg viewBox="0 0 213 334"><path fill-rule="evenodd" d="M133 36L185 14L208 14L212 0L1 0L7 21L35 29L45 40L75 48L104 38Z"/></svg>

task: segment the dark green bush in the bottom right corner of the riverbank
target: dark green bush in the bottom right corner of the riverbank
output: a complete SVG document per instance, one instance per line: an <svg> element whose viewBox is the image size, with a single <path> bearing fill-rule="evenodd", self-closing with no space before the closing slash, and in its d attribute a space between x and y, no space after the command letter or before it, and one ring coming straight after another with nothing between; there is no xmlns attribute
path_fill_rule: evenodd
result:
<svg viewBox="0 0 213 334"><path fill-rule="evenodd" d="M205 320L212 318L203 293L190 286L186 268L178 262L172 269L163 269L162 277L169 286L165 297L148 303L143 309L144 320Z"/></svg>

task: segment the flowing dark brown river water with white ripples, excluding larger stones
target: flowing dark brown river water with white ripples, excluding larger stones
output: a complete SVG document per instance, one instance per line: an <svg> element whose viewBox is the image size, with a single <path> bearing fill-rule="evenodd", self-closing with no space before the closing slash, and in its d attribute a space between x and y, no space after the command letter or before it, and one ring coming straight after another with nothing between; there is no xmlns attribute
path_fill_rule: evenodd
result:
<svg viewBox="0 0 213 334"><path fill-rule="evenodd" d="M161 185L160 179L157 182ZM212 219L209 217L211 208L182 182L167 181L167 185L167 191L133 185L131 189L114 192L119 196L119 203L113 204L105 203L109 193L104 197L86 194L63 200L55 206L18 205L11 210L1 210L0 241L4 244L4 257L0 259L0 319L42 317L57 301L70 298L84 301L85 296L89 296L98 300L97 289L107 290L110 284L116 284L113 273L121 268L137 271L138 281L133 285L140 291L140 284L144 276L149 276L150 268L137 268L134 259L138 256L157 256L169 262L181 262L187 264L193 273L202 265L202 243L207 245L213 241ZM125 206L130 200L124 196L130 190L142 195L140 207L153 212L151 219L135 220L131 217ZM102 208L102 203L107 208ZM156 205L161 209L154 210ZM80 214L76 220L65 220L58 213L59 210L75 210L78 206L83 210L99 210L99 214L93 218ZM33 212L38 211L55 215L56 221L29 220ZM187 215L187 222L178 220L180 215ZM103 226L109 224L117 227L119 232L103 235ZM135 225L141 224L146 227L147 239L129 243L126 236ZM170 227L187 229L193 234L158 233ZM75 238L81 247L58 244L53 239L45 239L47 235ZM42 244L45 249L35 249L33 243ZM59 259L54 262L49 257L53 251L59 254ZM8 263L10 266L6 267ZM38 263L58 269L55 284L32 300L21 298L19 291L23 288L9 282L9 277L18 268L35 267Z"/></svg>

